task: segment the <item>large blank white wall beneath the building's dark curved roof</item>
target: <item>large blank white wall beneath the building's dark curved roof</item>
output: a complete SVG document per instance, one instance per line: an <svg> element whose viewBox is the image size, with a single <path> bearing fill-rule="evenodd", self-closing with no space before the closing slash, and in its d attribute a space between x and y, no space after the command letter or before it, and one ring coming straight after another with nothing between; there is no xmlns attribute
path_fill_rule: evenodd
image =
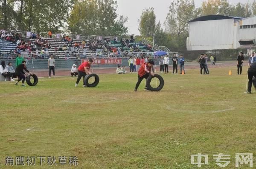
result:
<svg viewBox="0 0 256 169"><path fill-rule="evenodd" d="M234 19L189 23L187 50L232 49Z"/></svg>

